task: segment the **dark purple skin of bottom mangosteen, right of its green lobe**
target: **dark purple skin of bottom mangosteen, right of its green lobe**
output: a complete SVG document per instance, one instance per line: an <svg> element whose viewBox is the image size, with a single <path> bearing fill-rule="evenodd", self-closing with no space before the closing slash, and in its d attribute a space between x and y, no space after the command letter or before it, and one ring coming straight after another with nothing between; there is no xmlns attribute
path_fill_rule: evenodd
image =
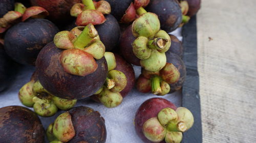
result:
<svg viewBox="0 0 256 143"><path fill-rule="evenodd" d="M106 141L105 122L98 111L86 106L78 106L70 109L69 113L76 134L68 143Z"/></svg>

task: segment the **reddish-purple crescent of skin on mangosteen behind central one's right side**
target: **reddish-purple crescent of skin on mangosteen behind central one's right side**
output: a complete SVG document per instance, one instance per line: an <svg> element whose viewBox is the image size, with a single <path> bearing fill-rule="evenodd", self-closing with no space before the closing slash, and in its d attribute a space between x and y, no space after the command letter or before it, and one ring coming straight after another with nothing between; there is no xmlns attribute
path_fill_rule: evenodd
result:
<svg viewBox="0 0 256 143"><path fill-rule="evenodd" d="M119 54L115 53L116 68L115 70L121 71L127 78L126 87L120 92L124 98L134 87L135 84L135 73L133 66L127 63Z"/></svg>

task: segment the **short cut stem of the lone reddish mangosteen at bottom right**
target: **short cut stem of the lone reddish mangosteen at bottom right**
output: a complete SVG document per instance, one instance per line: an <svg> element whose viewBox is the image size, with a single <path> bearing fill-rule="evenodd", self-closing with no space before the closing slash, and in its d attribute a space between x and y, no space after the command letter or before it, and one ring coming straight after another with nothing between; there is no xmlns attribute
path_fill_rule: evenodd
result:
<svg viewBox="0 0 256 143"><path fill-rule="evenodd" d="M167 130L172 132L185 132L187 131L187 126L184 122L170 122L167 125Z"/></svg>

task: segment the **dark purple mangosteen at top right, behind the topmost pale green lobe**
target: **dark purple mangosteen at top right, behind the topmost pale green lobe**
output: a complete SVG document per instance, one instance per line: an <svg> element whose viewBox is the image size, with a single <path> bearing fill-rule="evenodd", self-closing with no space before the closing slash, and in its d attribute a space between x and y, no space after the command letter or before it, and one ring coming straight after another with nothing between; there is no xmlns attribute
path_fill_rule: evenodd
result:
<svg viewBox="0 0 256 143"><path fill-rule="evenodd" d="M176 30L182 22L181 7L177 0L151 0L146 10L158 15L161 29L167 33Z"/></svg>

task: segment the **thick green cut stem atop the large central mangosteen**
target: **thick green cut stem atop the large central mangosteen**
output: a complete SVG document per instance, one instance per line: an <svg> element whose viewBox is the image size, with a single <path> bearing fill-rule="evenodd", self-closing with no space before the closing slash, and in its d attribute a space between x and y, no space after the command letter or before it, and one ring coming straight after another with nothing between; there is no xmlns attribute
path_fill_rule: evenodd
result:
<svg viewBox="0 0 256 143"><path fill-rule="evenodd" d="M92 23L84 27L82 33L77 37L74 42L75 48L83 49L86 47L95 37L98 36L98 32Z"/></svg>

